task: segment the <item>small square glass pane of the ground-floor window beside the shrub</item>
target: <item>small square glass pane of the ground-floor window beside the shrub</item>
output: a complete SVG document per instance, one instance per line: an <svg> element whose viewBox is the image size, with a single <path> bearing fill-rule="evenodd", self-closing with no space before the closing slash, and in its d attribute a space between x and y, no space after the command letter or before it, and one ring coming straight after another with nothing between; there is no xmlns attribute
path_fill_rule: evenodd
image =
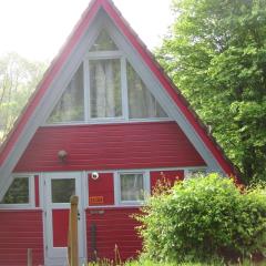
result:
<svg viewBox="0 0 266 266"><path fill-rule="evenodd" d="M143 174L121 174L121 201L144 201Z"/></svg>

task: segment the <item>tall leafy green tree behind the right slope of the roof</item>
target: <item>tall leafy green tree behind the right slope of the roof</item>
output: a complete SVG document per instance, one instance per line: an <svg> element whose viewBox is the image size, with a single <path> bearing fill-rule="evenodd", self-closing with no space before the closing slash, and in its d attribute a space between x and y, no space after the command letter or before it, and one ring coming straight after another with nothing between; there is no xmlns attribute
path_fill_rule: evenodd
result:
<svg viewBox="0 0 266 266"><path fill-rule="evenodd" d="M174 0L157 58L245 182L266 178L266 0Z"/></svg>

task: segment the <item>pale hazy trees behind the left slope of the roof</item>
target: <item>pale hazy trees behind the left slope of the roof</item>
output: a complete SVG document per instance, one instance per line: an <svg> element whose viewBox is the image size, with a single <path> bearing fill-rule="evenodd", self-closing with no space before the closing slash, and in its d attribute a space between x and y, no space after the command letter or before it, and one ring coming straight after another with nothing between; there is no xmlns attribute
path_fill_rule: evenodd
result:
<svg viewBox="0 0 266 266"><path fill-rule="evenodd" d="M0 144L13 126L44 69L45 63L30 62L17 53L0 58Z"/></svg>

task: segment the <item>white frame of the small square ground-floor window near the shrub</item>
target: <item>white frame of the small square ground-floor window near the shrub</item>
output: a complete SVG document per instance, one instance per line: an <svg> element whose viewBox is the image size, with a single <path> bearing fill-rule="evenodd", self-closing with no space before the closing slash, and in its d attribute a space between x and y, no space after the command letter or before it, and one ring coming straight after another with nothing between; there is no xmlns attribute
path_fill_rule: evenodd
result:
<svg viewBox="0 0 266 266"><path fill-rule="evenodd" d="M142 174L143 175L143 190L144 201L122 201L121 200L121 175L122 174ZM144 205L146 197L151 195L151 182L149 171L119 171L115 173L115 205L119 206L141 206Z"/></svg>

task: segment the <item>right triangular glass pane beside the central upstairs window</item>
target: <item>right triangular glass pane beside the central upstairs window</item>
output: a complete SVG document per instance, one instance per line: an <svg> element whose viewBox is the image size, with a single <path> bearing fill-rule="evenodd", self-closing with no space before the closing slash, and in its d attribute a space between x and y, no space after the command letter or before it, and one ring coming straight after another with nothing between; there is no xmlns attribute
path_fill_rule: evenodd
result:
<svg viewBox="0 0 266 266"><path fill-rule="evenodd" d="M139 74L126 64L130 119L167 117Z"/></svg>

